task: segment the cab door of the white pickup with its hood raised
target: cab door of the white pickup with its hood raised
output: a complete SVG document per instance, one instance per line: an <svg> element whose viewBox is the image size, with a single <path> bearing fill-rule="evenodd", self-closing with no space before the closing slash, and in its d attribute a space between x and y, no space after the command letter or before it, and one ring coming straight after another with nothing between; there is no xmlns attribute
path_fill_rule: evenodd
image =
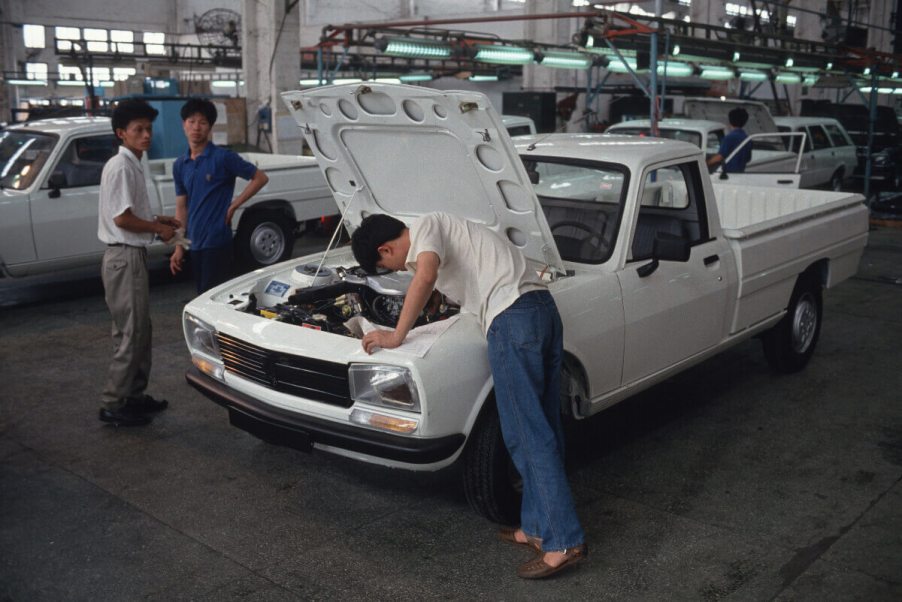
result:
<svg viewBox="0 0 902 602"><path fill-rule="evenodd" d="M733 270L727 241L709 234L697 161L649 169L641 186L630 256L619 272L626 324L624 385L723 339ZM657 236L686 241L688 261L660 261L643 274Z"/></svg>

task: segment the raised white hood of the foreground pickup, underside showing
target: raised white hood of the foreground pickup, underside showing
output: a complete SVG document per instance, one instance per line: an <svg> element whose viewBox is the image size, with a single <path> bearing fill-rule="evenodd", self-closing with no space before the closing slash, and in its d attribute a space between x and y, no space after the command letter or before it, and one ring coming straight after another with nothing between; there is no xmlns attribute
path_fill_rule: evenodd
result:
<svg viewBox="0 0 902 602"><path fill-rule="evenodd" d="M282 98L350 230L371 213L410 224L443 211L564 273L529 176L484 94L367 83Z"/></svg>

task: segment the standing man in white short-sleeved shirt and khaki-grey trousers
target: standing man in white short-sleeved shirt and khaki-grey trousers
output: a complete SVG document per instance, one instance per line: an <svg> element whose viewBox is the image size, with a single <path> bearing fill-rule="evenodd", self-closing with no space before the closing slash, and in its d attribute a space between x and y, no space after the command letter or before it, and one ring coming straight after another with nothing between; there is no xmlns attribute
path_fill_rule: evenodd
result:
<svg viewBox="0 0 902 602"><path fill-rule="evenodd" d="M156 116L157 110L142 100L116 106L113 132L121 146L100 179L97 237L107 245L102 277L115 345L100 420L116 426L147 424L152 412L168 405L144 392L151 365L147 245L155 235L170 240L179 227L173 217L153 215L144 181L141 157L150 148Z"/></svg>

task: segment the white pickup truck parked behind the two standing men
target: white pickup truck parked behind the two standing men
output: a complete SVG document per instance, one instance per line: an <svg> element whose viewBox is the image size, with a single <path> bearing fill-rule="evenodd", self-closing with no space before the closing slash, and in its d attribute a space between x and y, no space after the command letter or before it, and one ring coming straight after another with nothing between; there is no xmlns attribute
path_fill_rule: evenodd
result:
<svg viewBox="0 0 902 602"><path fill-rule="evenodd" d="M118 152L105 117L48 119L0 131L0 277L100 265L97 207L103 166ZM236 212L236 254L246 265L287 259L300 224L336 213L313 157L247 153L269 183ZM175 213L172 159L145 162L153 212ZM243 189L238 180L236 194ZM151 246L152 255L171 247Z"/></svg>

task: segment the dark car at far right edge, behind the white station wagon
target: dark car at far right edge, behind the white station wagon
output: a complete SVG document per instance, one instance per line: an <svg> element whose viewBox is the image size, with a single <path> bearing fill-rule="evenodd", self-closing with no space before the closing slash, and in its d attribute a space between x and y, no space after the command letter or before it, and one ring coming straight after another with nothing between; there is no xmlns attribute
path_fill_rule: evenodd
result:
<svg viewBox="0 0 902 602"><path fill-rule="evenodd" d="M801 113L803 116L832 117L842 124L857 147L858 165L853 176L864 178L870 109L859 104L803 102ZM884 189L902 191L902 126L890 107L877 107L871 146L871 180Z"/></svg>

